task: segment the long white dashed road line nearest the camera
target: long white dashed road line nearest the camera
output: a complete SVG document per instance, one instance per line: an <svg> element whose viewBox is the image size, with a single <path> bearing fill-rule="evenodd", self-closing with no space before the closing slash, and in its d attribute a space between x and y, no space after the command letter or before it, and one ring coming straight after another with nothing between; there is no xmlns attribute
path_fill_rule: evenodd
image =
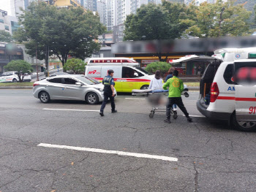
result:
<svg viewBox="0 0 256 192"><path fill-rule="evenodd" d="M50 147L50 148L59 148L59 149L67 149L67 150L82 150L82 151L89 151L94 153L107 153L107 154L116 154L116 155L124 155L124 156L132 156L137 158L154 158L163 161L178 161L178 158L172 158L162 155L148 155L143 153L129 153L124 151L118 150L102 150L102 149L95 149L95 148L88 148L88 147L73 147L67 145L52 145L47 143L40 143L37 145L39 147Z"/></svg>

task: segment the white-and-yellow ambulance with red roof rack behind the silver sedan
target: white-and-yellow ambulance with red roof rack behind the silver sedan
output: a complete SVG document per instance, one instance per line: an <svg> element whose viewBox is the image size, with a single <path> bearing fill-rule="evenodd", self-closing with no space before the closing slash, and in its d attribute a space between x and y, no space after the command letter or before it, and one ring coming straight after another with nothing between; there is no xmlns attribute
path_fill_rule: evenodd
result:
<svg viewBox="0 0 256 192"><path fill-rule="evenodd" d="M85 75L102 81L108 75L109 69L114 71L117 92L131 93L133 89L147 89L154 77L130 58L91 58L86 66Z"/></svg>

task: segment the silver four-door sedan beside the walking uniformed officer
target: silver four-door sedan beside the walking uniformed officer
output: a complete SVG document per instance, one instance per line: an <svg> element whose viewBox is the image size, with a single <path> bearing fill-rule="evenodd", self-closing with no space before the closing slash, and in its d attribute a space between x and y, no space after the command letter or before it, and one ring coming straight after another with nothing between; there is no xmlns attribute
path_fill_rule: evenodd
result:
<svg viewBox="0 0 256 192"><path fill-rule="evenodd" d="M80 100L88 104L103 101L101 82L79 74L65 74L34 82L33 95L42 103L50 100Z"/></svg>

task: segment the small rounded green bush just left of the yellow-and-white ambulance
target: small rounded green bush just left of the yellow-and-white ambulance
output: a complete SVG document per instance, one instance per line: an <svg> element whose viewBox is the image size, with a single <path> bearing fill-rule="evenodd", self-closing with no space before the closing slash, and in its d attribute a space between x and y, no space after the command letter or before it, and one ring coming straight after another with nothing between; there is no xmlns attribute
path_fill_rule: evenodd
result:
<svg viewBox="0 0 256 192"><path fill-rule="evenodd" d="M64 69L72 74L84 73L86 64L79 58L68 59Z"/></svg>

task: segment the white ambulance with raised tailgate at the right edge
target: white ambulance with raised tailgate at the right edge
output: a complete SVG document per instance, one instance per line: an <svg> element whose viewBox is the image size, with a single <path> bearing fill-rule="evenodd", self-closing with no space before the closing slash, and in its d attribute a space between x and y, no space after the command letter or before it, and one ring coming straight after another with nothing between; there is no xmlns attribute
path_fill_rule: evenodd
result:
<svg viewBox="0 0 256 192"><path fill-rule="evenodd" d="M256 67L256 48L226 48L214 53L211 58L205 58L210 64L200 80L197 110L207 118L227 120L239 130L255 130L256 84L238 85L234 74L241 67Z"/></svg>

